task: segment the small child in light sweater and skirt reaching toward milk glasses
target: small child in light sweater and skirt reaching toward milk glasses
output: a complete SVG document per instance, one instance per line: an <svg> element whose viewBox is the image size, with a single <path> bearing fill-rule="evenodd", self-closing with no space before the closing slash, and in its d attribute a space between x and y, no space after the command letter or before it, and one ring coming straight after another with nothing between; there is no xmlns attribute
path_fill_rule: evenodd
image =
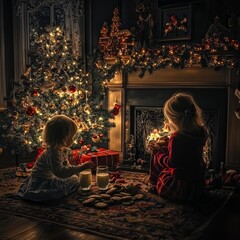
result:
<svg viewBox="0 0 240 240"><path fill-rule="evenodd" d="M18 190L24 199L44 202L68 196L79 188L77 173L93 168L94 163L70 165L67 152L77 132L76 123L65 115L55 115L43 131L45 151L37 159L31 175Z"/></svg>

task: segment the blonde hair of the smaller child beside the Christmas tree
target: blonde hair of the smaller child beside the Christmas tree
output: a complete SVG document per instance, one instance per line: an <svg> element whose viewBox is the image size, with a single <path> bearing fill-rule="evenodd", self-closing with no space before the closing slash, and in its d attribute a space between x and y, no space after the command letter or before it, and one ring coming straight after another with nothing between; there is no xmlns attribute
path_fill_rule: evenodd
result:
<svg viewBox="0 0 240 240"><path fill-rule="evenodd" d="M43 131L43 141L46 147L69 147L69 140L77 132L76 123L65 115L55 115L46 124Z"/></svg>

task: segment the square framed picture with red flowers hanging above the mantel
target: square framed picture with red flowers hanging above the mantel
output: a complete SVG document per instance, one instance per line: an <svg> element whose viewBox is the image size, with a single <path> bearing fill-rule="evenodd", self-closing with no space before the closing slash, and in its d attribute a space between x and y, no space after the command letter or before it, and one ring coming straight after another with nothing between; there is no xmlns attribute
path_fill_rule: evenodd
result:
<svg viewBox="0 0 240 240"><path fill-rule="evenodd" d="M159 41L191 39L191 4L159 9Z"/></svg>

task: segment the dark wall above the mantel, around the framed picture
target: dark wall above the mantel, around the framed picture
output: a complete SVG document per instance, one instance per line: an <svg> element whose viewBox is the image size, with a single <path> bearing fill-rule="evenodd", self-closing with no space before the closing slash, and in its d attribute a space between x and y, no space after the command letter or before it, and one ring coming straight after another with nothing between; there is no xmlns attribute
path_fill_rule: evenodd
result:
<svg viewBox="0 0 240 240"><path fill-rule="evenodd" d="M88 1L87 1L88 2ZM160 11L162 8L171 8L191 5L191 38L189 41L201 42L205 37L209 26L214 22L216 16L220 17L220 22L229 28L229 19L235 16L235 23L240 21L240 1L236 0L92 0L92 28L91 48L97 48L100 29L104 21L110 26L112 23L113 10L119 9L122 22L122 29L137 27L136 3L143 2L146 6L152 7L154 17L154 41L153 44L161 42L160 39ZM238 19L239 18L239 19ZM240 40L240 24L233 27L232 37ZM176 41L175 41L176 42ZM89 51L88 51L89 52Z"/></svg>

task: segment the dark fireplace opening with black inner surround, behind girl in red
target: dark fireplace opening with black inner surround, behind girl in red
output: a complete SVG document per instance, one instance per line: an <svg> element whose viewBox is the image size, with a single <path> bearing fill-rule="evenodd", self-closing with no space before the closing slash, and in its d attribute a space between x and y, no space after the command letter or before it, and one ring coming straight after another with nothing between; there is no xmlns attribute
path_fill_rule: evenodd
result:
<svg viewBox="0 0 240 240"><path fill-rule="evenodd" d="M125 163L141 171L149 170L148 136L162 129L163 104L175 92L190 92L203 109L209 130L204 160L219 170L225 162L227 93L225 89L128 89L126 92L126 156ZM143 97L144 96L144 97ZM186 146L187 147L187 146Z"/></svg>

